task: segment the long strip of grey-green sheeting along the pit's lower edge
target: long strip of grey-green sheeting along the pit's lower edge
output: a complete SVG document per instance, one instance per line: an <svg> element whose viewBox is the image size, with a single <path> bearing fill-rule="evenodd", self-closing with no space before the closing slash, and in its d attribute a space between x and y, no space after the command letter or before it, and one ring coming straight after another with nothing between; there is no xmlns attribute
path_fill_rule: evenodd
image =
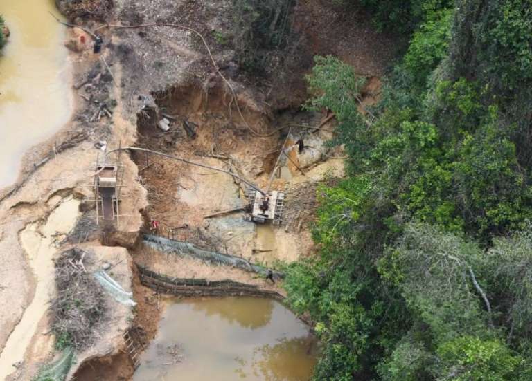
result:
<svg viewBox="0 0 532 381"><path fill-rule="evenodd" d="M197 248L192 243L175 241L173 239L166 239L152 234L144 234L144 244L148 247L159 250L161 252L172 254L188 254L190 257L202 259L203 261L210 261L213 263L220 263L226 266L234 266L249 272L256 272L260 275L266 276L268 269L263 266L258 266L240 257L233 255L220 254L219 252L211 252ZM275 272L276 277L283 278L281 272Z"/></svg>

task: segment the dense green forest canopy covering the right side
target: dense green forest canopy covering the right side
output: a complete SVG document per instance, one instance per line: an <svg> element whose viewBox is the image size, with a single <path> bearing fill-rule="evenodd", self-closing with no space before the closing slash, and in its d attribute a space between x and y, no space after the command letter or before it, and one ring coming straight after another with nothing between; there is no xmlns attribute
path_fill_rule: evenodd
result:
<svg viewBox="0 0 532 381"><path fill-rule="evenodd" d="M314 378L532 380L532 2L361 2L409 46L365 115L350 66L308 77L349 157L287 270Z"/></svg>

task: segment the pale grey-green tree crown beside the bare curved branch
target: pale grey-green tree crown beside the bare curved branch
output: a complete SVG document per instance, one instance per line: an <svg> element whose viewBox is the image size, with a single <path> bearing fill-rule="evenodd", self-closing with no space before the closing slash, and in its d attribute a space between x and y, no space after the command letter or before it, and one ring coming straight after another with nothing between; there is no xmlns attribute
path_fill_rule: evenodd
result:
<svg viewBox="0 0 532 381"><path fill-rule="evenodd" d="M476 245L454 234L409 223L396 248L381 260L380 272L398 286L434 339L443 342L456 335L482 332L487 325L470 277L479 256L481 250Z"/></svg>

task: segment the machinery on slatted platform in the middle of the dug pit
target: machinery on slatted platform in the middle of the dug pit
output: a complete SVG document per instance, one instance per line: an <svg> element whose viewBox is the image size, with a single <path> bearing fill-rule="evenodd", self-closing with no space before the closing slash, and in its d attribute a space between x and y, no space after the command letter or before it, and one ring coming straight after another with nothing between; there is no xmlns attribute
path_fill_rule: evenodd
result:
<svg viewBox="0 0 532 381"><path fill-rule="evenodd" d="M246 196L249 200L247 216L245 221L265 223L272 221L274 225L283 223L283 207L285 203L285 192L272 191L263 194L258 190L247 189Z"/></svg>

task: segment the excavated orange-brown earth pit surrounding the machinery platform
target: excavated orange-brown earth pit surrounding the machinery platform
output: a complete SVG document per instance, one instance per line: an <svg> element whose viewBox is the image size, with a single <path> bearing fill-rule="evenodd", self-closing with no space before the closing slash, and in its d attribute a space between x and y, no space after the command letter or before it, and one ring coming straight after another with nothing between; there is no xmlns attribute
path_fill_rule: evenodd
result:
<svg viewBox="0 0 532 381"><path fill-rule="evenodd" d="M343 162L335 159L342 155L341 150L331 150L324 144L332 138L332 133L326 131L332 124L312 129L323 120L320 113L278 113L252 94L238 99L247 124L233 106L231 93L215 80L209 86L191 82L154 93L157 107L147 115L139 115L137 144L233 171L262 189L287 192L289 223L278 227L244 221L245 212L241 210L248 203L247 185L237 178L135 152L141 181L148 189L150 205L145 212L150 219L160 221L161 234L171 232L173 238L199 248L266 266L294 261L312 252L308 224L299 217L312 214L315 194L305 195L308 210L303 210L307 205L301 203L299 189L315 189L326 176L342 176ZM172 118L168 132L157 128L157 112ZM185 122L194 126L193 136L184 129ZM301 152L294 143L300 139L309 145ZM291 194L295 196L292 201ZM236 212L218 214L226 210Z"/></svg>

